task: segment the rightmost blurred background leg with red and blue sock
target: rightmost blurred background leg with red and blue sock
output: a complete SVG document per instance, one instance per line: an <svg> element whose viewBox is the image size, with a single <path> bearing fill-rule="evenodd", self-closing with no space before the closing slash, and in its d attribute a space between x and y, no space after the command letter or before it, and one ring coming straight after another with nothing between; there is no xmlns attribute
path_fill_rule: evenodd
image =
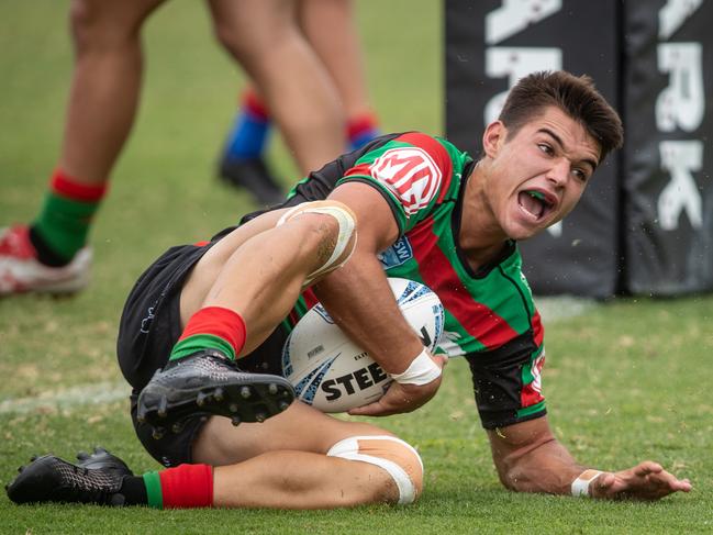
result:
<svg viewBox="0 0 713 535"><path fill-rule="evenodd" d="M369 105L359 35L352 0L300 0L300 26L339 93L350 148L379 135Z"/></svg>

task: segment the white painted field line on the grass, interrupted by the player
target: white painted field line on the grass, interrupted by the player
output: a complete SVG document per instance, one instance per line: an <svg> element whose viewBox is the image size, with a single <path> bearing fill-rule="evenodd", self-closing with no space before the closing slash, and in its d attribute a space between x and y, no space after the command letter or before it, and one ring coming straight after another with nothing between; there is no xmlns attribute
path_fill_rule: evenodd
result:
<svg viewBox="0 0 713 535"><path fill-rule="evenodd" d="M535 298L537 310L545 325L558 320L573 317L598 306L598 302L573 297ZM89 404L113 403L129 398L131 388L125 382L101 382L65 390L42 392L34 398L18 398L0 401L0 414L27 414L71 410Z"/></svg>

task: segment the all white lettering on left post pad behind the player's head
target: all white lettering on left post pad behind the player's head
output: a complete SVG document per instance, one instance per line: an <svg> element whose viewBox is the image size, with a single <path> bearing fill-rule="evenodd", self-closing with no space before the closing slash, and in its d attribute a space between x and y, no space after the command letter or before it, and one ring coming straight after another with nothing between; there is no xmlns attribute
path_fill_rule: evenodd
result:
<svg viewBox="0 0 713 535"><path fill-rule="evenodd" d="M500 8L486 15L486 43L488 45L500 43L561 9L561 0L503 0ZM561 68L562 51L556 46L488 46L486 75L490 78L508 77L508 91L502 91L488 101L483 110L484 124L498 119L510 88L520 78L536 70ZM555 237L561 236L561 222L547 229L547 232Z"/></svg>

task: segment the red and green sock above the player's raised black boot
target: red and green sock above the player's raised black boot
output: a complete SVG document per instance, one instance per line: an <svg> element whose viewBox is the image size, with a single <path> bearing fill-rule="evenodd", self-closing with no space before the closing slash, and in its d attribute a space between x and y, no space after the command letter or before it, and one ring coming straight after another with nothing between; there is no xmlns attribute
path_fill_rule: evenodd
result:
<svg viewBox="0 0 713 535"><path fill-rule="evenodd" d="M222 306L207 306L188 320L168 360L177 360L202 349L216 349L235 360L244 345L245 322L241 315Z"/></svg>

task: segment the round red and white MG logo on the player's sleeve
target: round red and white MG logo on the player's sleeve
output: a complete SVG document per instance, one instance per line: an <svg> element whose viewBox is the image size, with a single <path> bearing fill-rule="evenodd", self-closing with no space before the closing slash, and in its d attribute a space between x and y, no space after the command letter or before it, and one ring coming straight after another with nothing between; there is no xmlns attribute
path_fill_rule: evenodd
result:
<svg viewBox="0 0 713 535"><path fill-rule="evenodd" d="M438 196L443 174L421 147L391 148L369 167L369 174L401 202L406 216Z"/></svg>

